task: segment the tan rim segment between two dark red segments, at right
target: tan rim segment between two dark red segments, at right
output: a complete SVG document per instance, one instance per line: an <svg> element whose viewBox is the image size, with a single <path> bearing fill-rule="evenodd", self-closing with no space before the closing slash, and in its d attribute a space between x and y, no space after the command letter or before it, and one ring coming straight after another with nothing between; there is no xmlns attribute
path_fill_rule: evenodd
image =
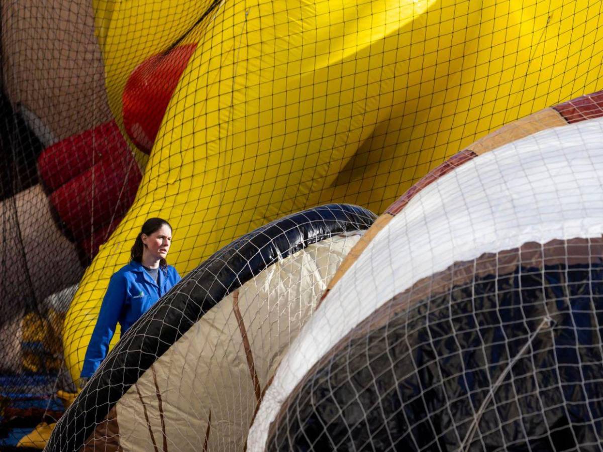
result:
<svg viewBox="0 0 603 452"><path fill-rule="evenodd" d="M467 149L481 155L533 133L560 125L567 125L566 120L552 108L545 108L545 110L537 111L532 115L525 116L525 118L504 125L467 146Z"/></svg>

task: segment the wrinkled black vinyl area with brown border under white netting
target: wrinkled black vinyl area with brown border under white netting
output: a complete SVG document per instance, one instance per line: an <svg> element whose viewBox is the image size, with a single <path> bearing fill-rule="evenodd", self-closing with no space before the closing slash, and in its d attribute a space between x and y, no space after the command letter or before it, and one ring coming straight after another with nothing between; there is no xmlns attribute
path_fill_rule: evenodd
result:
<svg viewBox="0 0 603 452"><path fill-rule="evenodd" d="M601 243L531 243L418 281L308 372L268 450L596 449Z"/></svg>

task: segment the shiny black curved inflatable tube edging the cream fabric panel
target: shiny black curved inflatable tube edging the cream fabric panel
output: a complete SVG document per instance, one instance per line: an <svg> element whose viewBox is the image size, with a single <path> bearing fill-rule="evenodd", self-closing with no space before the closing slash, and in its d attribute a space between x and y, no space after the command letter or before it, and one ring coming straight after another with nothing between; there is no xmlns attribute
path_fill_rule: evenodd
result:
<svg viewBox="0 0 603 452"><path fill-rule="evenodd" d="M230 292L311 243L366 230L375 219L362 207L327 204L273 221L216 251L124 334L58 421L46 450L79 450L130 386Z"/></svg>

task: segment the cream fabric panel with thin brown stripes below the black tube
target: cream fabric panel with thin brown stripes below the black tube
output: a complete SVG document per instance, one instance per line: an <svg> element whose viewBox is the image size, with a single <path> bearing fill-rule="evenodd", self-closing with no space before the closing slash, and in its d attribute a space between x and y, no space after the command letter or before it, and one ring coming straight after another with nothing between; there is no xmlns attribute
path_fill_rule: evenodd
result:
<svg viewBox="0 0 603 452"><path fill-rule="evenodd" d="M168 450L201 450L210 410L208 450L242 450L257 406L242 331L264 390L361 235L342 234L309 245L210 309L119 400L124 451L153 450L153 440L162 450L163 432ZM235 315L235 297L242 328Z"/></svg>

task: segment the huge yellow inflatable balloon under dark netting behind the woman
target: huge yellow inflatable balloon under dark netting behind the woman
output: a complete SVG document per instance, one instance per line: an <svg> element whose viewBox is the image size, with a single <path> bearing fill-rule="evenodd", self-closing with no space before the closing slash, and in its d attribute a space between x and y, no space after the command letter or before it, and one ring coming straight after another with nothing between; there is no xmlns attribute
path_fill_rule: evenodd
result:
<svg viewBox="0 0 603 452"><path fill-rule="evenodd" d="M67 315L74 379L109 277L128 262L146 218L172 224L168 260L186 274L241 234L306 207L382 212L491 130L603 87L594 0L239 0L216 3L201 22L209 2L95 7L118 122L137 64L176 42L197 47L136 201Z"/></svg>

